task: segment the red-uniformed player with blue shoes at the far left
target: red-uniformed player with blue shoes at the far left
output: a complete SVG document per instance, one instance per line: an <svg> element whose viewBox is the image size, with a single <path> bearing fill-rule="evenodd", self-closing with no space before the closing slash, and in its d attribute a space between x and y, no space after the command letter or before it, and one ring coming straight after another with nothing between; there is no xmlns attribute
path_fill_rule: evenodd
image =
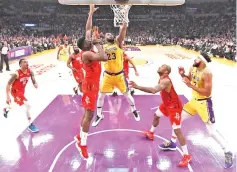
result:
<svg viewBox="0 0 237 172"><path fill-rule="evenodd" d="M27 99L25 98L25 87L28 83L28 80L31 78L32 83L34 84L35 88L38 88L36 83L34 73L29 69L29 65L27 60L21 59L19 61L20 69L17 70L14 74L12 74L10 80L8 81L6 87L6 95L7 95L7 108L4 108L4 117L7 118L7 114L10 109L11 98L10 94L14 98L14 102L17 103L19 106L24 106L26 110L27 119L30 123L28 130L31 132L38 132L39 130L36 126L32 123L31 116L30 116L30 104L28 103Z"/></svg>

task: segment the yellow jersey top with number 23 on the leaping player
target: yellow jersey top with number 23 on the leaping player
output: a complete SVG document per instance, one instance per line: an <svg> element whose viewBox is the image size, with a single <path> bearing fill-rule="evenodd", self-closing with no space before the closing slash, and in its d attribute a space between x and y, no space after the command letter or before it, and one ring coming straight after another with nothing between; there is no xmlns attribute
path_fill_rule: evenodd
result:
<svg viewBox="0 0 237 172"><path fill-rule="evenodd" d="M104 63L105 71L109 73L119 73L123 70L123 50L117 44L107 44L104 46L108 61Z"/></svg>

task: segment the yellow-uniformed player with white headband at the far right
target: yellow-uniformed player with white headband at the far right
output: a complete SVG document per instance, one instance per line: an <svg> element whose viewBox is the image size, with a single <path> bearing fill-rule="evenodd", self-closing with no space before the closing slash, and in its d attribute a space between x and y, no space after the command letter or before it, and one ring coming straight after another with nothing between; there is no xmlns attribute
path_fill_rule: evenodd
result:
<svg viewBox="0 0 237 172"><path fill-rule="evenodd" d="M183 78L183 82L192 89L192 99L189 100L183 107L182 121L187 118L199 114L202 121L205 123L209 134L222 147L225 153L225 168L233 166L233 153L227 147L227 143L215 128L215 116L212 107L212 73L208 69L207 64L211 62L210 57L206 53L201 53L190 68L189 74L185 75L183 67L179 67L179 74ZM174 147L176 135L172 133L170 142L160 145L161 149ZM176 147L176 145L175 145Z"/></svg>

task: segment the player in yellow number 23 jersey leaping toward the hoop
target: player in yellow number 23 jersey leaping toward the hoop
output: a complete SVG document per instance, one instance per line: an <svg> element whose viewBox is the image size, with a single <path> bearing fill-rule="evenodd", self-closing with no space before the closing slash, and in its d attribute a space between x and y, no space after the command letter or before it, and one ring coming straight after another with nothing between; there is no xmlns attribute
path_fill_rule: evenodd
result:
<svg viewBox="0 0 237 172"><path fill-rule="evenodd" d="M97 126L104 118L102 107L106 93L112 93L114 88L117 88L128 100L131 106L134 118L140 121L140 116L137 113L134 99L129 92L128 83L123 70L123 41L126 36L127 24L120 27L119 35L115 38L111 33L105 34L106 45L104 46L105 53L108 56L108 61L104 63L104 77L100 85L100 94L97 100L97 116L92 126Z"/></svg>

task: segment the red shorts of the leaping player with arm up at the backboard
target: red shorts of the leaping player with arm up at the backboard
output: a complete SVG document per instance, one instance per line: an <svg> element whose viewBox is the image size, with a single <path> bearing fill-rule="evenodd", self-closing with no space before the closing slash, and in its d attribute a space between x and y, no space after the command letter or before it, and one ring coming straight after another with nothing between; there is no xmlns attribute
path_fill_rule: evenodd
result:
<svg viewBox="0 0 237 172"><path fill-rule="evenodd" d="M82 82L82 106L85 110L95 111L99 93L99 83Z"/></svg>

